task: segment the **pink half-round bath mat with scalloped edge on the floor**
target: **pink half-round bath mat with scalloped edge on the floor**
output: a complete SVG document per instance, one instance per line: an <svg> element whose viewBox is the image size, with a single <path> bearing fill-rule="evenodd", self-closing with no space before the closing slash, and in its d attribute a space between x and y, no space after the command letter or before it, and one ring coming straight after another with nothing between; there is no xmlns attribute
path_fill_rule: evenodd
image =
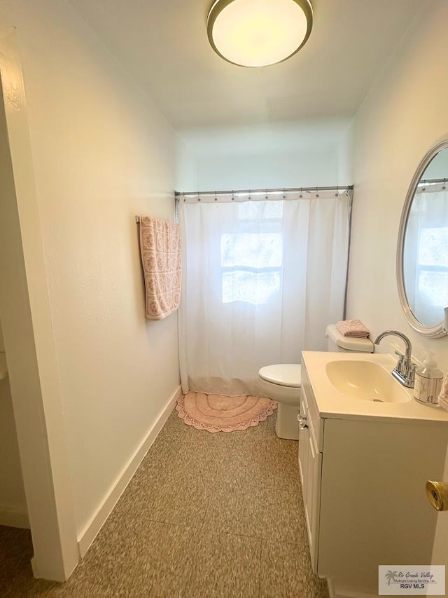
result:
<svg viewBox="0 0 448 598"><path fill-rule="evenodd" d="M225 397L205 393L187 393L177 400L179 417L188 426L208 432L233 432L258 426L274 413L275 401L241 395Z"/></svg>

